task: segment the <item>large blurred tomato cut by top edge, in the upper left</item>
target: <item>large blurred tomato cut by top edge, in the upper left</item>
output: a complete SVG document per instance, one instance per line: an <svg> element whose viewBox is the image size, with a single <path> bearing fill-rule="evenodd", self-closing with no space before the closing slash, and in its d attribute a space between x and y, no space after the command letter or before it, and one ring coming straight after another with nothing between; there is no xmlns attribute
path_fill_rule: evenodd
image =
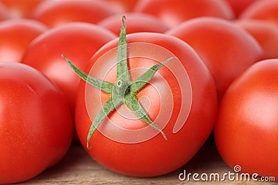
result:
<svg viewBox="0 0 278 185"><path fill-rule="evenodd" d="M49 27L65 24L69 21L84 21L95 24L112 15L113 11L105 1L71 0L43 1L33 10L31 17L42 21Z"/></svg>

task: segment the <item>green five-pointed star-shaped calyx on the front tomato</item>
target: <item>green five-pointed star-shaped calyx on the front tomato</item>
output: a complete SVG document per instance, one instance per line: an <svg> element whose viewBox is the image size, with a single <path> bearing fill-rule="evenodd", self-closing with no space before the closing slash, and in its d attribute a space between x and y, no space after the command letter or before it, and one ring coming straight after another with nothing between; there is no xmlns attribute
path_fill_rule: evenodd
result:
<svg viewBox="0 0 278 185"><path fill-rule="evenodd" d="M163 67L164 64L174 59L175 57L169 58L164 62L154 65L145 73L143 73L139 78L137 78L134 81L131 81L127 62L126 27L124 24L124 19L125 17L122 17L122 29L120 33L117 51L117 81L115 82L115 84L89 76L88 74L75 67L74 64L70 62L70 60L67 60L67 58L65 58L65 56L62 55L67 64L69 64L72 70L81 79L85 80L85 82L100 89L101 91L111 94L111 98L104 104L104 106L101 108L101 110L95 117L94 121L92 121L92 125L90 126L90 130L87 136L88 149L90 149L89 142L92 137L92 134L94 134L95 130L97 130L97 127L101 124L102 121L104 121L108 114L113 112L115 108L122 104L127 105L129 109L131 109L131 111L134 114L136 114L136 116L138 116L138 118L140 118L142 121L161 132L164 139L167 140L167 137L163 130L161 130L160 127L155 125L151 118L149 118L147 112L145 112L145 109L140 104L136 94L138 94L138 92L143 87L145 87L145 85L147 85L149 80L153 78L154 74L156 73L156 71L158 71L158 69Z"/></svg>

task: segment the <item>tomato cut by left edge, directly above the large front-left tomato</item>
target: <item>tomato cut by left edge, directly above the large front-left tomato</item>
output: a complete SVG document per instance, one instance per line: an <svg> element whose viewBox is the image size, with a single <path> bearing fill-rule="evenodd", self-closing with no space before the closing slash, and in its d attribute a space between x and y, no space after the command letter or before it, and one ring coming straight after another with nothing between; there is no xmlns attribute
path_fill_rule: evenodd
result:
<svg viewBox="0 0 278 185"><path fill-rule="evenodd" d="M0 62L20 62L28 45L47 26L31 19L8 19L0 22Z"/></svg>

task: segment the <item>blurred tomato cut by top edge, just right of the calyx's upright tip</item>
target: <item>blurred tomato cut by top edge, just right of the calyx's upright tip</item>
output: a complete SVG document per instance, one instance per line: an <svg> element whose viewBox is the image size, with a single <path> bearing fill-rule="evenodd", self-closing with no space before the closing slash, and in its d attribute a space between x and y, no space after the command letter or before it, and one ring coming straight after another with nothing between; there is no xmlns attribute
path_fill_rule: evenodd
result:
<svg viewBox="0 0 278 185"><path fill-rule="evenodd" d="M195 17L234 18L233 10L226 1L222 0L139 0L134 11L154 15L171 28Z"/></svg>

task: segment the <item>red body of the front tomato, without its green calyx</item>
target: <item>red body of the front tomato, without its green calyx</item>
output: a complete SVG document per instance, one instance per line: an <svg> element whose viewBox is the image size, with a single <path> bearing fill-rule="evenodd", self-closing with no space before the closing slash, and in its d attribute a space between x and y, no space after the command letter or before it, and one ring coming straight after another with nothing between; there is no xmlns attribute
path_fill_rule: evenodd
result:
<svg viewBox="0 0 278 185"><path fill-rule="evenodd" d="M173 55L179 59L161 67L137 94L154 124L164 127L167 141L120 105L92 134L88 150L92 120L110 96L83 81L76 100L76 131L89 155L108 169L139 177L170 173L186 164L211 133L218 107L213 78L197 53L176 37L133 33L126 39L131 80ZM102 47L87 72L115 82L117 43L118 39Z"/></svg>

